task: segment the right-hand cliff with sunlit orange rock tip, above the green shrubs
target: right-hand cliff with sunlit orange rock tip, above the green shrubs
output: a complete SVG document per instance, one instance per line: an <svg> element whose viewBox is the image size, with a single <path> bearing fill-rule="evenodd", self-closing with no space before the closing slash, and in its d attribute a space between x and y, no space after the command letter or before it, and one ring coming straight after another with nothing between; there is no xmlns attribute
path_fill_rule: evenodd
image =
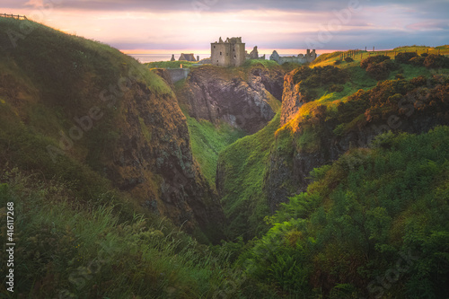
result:
<svg viewBox="0 0 449 299"><path fill-rule="evenodd" d="M375 136L386 131L420 134L438 125L449 124L448 83L436 82L428 89L409 86L407 90L402 86L403 94L396 93L390 87L394 84L402 86L409 83L392 81L384 84L388 87L382 87L382 84L379 87L378 84L373 92L363 95L369 99L366 107L357 108L354 116L347 119L343 116L343 109L339 110L340 115L335 118L332 117L335 114L322 105L313 107L304 117L301 115L304 102L295 90L292 78L286 75L281 110L281 126L286 126L277 131L273 146L275 150L269 155L269 170L264 179L264 192L268 196L271 212L277 210L280 203L287 202L288 197L306 190L312 182L310 171L337 160L350 148L368 147ZM423 96L422 92L427 94ZM389 101L392 101L390 94L400 94L402 100L388 106ZM361 100L352 101L357 105ZM375 105L381 107L381 112L375 114L370 111L373 110L371 106ZM348 124L347 128L336 133L336 128L342 123ZM350 165L357 167L357 161L350 162Z"/></svg>

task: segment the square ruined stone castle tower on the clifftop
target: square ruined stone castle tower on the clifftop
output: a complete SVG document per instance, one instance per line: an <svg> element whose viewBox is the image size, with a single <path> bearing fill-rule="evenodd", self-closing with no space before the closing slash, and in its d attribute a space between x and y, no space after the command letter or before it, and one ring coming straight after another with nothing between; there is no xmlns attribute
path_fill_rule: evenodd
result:
<svg viewBox="0 0 449 299"><path fill-rule="evenodd" d="M210 44L211 60L214 66L242 66L245 62L245 44L242 38L227 38Z"/></svg>

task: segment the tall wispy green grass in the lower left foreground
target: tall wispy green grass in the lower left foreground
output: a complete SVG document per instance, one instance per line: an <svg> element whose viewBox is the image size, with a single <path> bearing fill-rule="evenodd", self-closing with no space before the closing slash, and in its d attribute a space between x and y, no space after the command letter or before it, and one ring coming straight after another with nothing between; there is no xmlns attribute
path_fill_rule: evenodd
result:
<svg viewBox="0 0 449 299"><path fill-rule="evenodd" d="M220 286L225 255L163 219L123 222L110 204L78 204L66 185L39 177L17 169L0 177L2 219L14 204L14 295L208 298Z"/></svg>

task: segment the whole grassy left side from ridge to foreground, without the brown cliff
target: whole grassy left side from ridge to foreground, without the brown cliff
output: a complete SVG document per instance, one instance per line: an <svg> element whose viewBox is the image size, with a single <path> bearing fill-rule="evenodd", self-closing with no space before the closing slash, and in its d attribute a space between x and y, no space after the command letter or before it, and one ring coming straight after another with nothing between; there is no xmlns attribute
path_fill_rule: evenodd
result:
<svg viewBox="0 0 449 299"><path fill-rule="evenodd" d="M0 48L0 214L3 222L6 202L14 203L14 269L20 273L15 294L211 296L220 280L207 267L221 266L207 248L157 216L147 214L144 221L137 216L146 213L143 208L92 170L119 133L120 102L102 105L101 90L117 85L131 68L154 94L163 97L172 90L107 45L13 19L0 18L0 31L20 32L21 24L31 34L18 40L17 48L2 34L5 48ZM57 146L59 132L74 125L72 118L97 104L104 117L53 163L47 145ZM92 148L98 156L86 156ZM5 277L2 294L4 282Z"/></svg>

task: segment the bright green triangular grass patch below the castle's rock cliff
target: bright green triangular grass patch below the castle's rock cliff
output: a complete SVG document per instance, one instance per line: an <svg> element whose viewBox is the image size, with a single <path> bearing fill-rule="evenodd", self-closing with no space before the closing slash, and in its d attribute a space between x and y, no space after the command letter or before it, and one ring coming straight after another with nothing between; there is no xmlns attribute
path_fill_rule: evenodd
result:
<svg viewBox="0 0 449 299"><path fill-rule="evenodd" d="M216 163L218 155L227 145L246 136L245 132L225 122L214 125L205 119L194 119L186 115L189 126L192 154L211 186L216 185Z"/></svg>

